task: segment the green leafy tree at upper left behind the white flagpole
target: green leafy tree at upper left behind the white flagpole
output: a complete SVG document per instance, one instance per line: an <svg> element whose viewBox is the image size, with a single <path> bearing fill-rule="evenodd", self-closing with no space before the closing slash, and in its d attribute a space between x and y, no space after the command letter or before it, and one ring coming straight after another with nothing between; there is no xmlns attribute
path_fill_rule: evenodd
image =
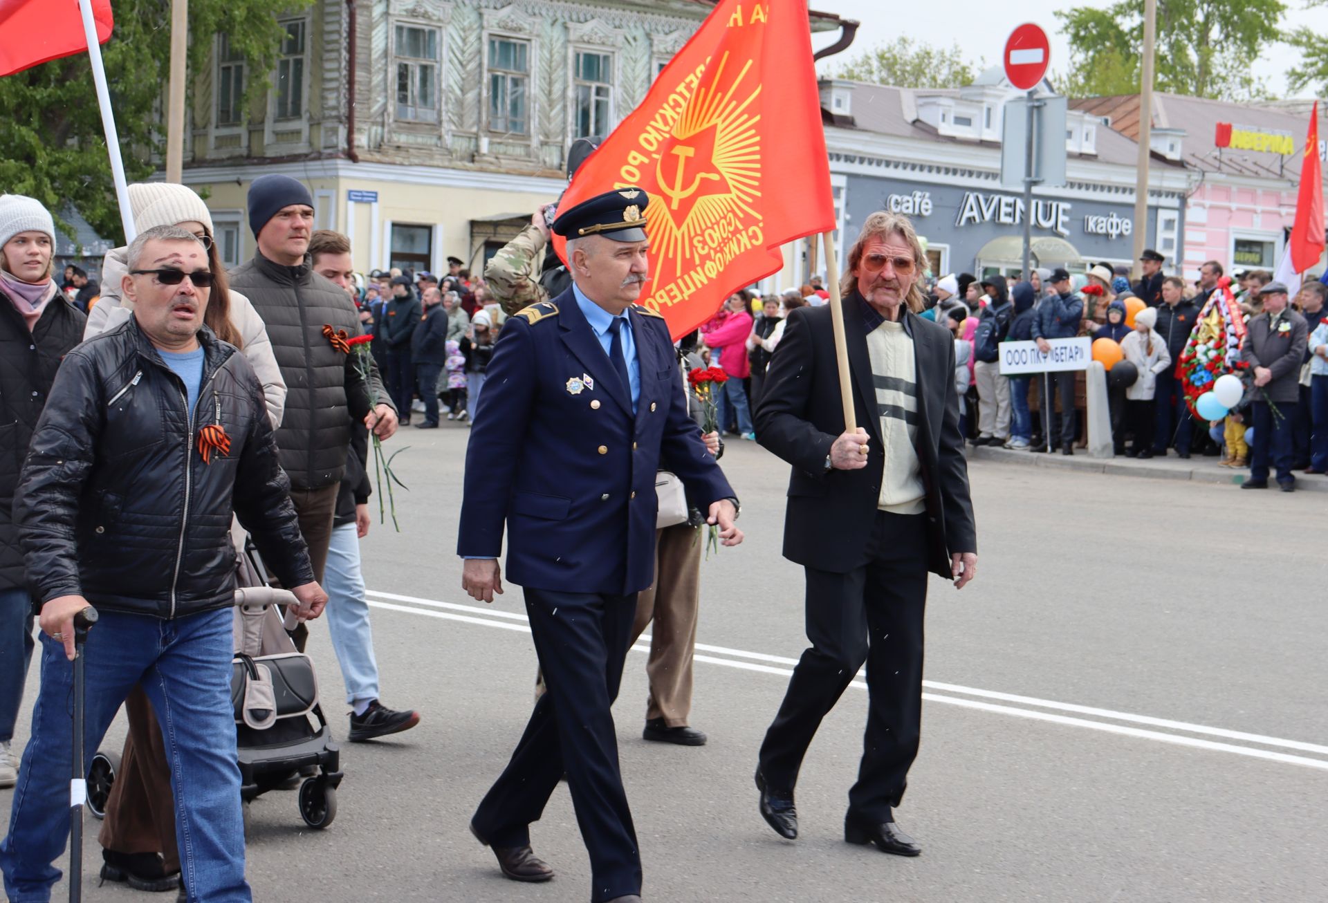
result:
<svg viewBox="0 0 1328 903"><path fill-rule="evenodd" d="M191 0L190 85L211 64L218 32L252 72L270 72L283 35L276 15L312 1ZM153 154L165 149L170 7L170 0L116 0L116 29L101 48L130 182L151 175ZM248 89L258 94L266 84L251 78ZM31 195L53 211L73 205L98 234L124 238L86 53L0 78L0 191Z"/></svg>

